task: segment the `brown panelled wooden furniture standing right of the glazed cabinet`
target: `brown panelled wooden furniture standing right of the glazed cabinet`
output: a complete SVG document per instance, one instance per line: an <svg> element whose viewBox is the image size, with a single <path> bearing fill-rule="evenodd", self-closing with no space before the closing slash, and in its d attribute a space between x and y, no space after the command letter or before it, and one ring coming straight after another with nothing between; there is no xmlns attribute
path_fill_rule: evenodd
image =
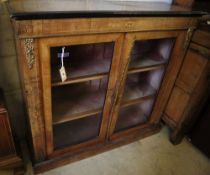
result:
<svg viewBox="0 0 210 175"><path fill-rule="evenodd" d="M165 110L164 120L173 130L173 143L179 143L195 121L202 117L199 115L200 111L210 94L209 19L205 17L201 21L192 37Z"/></svg>

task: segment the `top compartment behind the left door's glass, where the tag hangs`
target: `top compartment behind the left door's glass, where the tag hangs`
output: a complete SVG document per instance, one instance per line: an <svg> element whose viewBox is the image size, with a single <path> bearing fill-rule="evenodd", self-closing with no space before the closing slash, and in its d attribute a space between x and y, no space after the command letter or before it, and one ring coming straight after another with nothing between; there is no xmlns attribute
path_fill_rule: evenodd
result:
<svg viewBox="0 0 210 175"><path fill-rule="evenodd" d="M114 43L97 43L65 46L64 66L68 79L98 75L109 72ZM61 81L62 47L51 48L52 82Z"/></svg>

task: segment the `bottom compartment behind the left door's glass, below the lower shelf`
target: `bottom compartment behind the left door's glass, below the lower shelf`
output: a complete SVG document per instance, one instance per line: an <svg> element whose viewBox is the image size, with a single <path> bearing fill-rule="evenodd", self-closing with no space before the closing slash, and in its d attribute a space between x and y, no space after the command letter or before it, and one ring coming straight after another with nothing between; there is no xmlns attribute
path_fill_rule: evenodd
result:
<svg viewBox="0 0 210 175"><path fill-rule="evenodd" d="M53 126L54 148L79 144L99 135L101 114Z"/></svg>

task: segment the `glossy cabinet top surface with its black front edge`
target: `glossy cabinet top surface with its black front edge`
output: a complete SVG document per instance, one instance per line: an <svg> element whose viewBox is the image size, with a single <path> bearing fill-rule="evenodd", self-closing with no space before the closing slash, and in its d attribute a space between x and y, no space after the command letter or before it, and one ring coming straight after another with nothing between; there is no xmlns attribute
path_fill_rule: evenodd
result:
<svg viewBox="0 0 210 175"><path fill-rule="evenodd" d="M176 5L120 0L13 0L8 2L16 20L80 17L201 16Z"/></svg>

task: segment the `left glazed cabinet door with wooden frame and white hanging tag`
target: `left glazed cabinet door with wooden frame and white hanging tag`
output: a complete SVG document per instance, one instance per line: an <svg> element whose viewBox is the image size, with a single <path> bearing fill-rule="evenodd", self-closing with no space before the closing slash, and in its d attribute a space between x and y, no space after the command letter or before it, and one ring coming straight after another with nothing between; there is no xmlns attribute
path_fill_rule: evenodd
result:
<svg viewBox="0 0 210 175"><path fill-rule="evenodd" d="M98 34L39 40L49 157L104 142L122 39Z"/></svg>

